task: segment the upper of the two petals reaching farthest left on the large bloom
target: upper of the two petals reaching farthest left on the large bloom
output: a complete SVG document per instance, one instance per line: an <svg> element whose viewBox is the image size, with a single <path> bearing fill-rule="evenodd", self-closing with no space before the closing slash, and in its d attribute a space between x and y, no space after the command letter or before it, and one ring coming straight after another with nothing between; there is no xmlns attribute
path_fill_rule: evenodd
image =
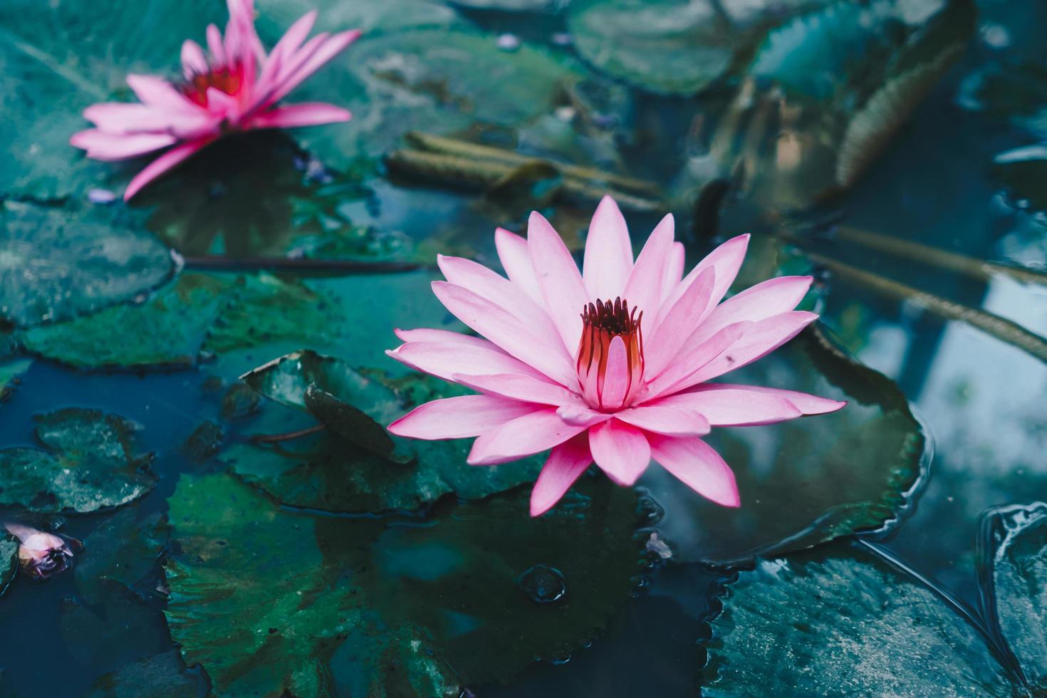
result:
<svg viewBox="0 0 1047 698"><path fill-rule="evenodd" d="M415 370L430 374L445 381L463 371L470 374L517 374L548 382L549 379L514 359L491 342L463 344L461 342L407 342L392 352L389 357Z"/></svg>

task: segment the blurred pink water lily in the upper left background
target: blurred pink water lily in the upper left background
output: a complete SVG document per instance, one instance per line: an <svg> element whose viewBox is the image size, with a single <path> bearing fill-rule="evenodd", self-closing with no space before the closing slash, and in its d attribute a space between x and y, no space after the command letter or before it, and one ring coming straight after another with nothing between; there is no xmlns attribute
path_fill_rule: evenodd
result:
<svg viewBox="0 0 1047 698"><path fill-rule="evenodd" d="M124 199L203 147L231 131L348 121L340 107L324 103L276 106L288 92L349 46L359 31L318 33L310 12L291 25L266 54L254 31L254 0L228 0L225 36L207 27L207 52L182 44L182 80L128 75L140 104L92 105L84 117L96 128L69 139L96 160L125 160L173 147L131 180Z"/></svg>

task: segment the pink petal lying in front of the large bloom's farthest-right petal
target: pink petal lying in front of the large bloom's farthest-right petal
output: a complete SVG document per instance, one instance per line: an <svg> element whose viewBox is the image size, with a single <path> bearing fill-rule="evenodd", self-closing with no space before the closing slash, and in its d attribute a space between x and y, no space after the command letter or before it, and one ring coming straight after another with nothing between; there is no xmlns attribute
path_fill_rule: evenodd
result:
<svg viewBox="0 0 1047 698"><path fill-rule="evenodd" d="M745 386L738 386L742 388ZM751 427L794 420L802 412L788 400L756 391L700 385L647 404L704 414L714 427Z"/></svg>

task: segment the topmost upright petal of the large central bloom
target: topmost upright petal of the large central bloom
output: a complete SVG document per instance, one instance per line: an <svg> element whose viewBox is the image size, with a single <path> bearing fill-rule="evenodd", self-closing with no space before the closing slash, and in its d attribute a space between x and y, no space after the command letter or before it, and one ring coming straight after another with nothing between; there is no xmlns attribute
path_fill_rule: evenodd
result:
<svg viewBox="0 0 1047 698"><path fill-rule="evenodd" d="M632 271L632 243L625 218L609 196L600 200L585 239L582 279L591 298L614 300Z"/></svg>

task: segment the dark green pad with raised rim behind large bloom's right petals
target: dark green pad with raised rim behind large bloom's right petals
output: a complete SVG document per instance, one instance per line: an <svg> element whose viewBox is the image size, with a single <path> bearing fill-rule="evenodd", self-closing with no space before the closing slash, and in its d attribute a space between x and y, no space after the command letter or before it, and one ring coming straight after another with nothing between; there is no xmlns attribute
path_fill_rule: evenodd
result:
<svg viewBox="0 0 1047 698"><path fill-rule="evenodd" d="M925 436L898 386L808 330L725 381L846 400L829 414L714 429L741 506L717 506L661 468L641 485L666 510L659 525L677 559L734 564L893 523L923 474Z"/></svg>

